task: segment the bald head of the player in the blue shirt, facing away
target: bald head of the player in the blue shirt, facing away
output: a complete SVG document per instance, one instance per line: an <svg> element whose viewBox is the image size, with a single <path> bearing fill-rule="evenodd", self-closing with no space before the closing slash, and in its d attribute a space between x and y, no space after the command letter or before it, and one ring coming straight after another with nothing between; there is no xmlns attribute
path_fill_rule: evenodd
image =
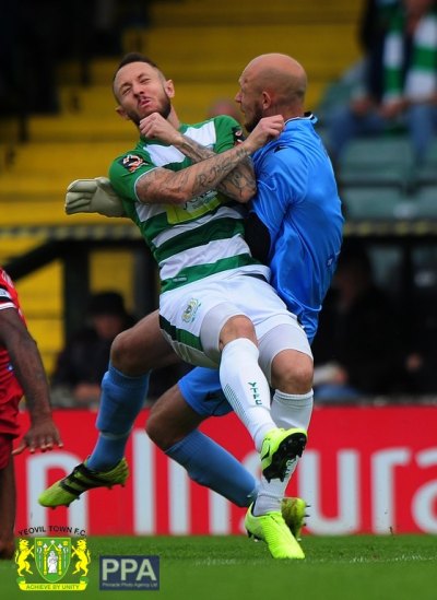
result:
<svg viewBox="0 0 437 600"><path fill-rule="evenodd" d="M258 56L243 71L241 80L260 93L267 92L277 113L286 107L303 110L307 74L294 58L277 52Z"/></svg>

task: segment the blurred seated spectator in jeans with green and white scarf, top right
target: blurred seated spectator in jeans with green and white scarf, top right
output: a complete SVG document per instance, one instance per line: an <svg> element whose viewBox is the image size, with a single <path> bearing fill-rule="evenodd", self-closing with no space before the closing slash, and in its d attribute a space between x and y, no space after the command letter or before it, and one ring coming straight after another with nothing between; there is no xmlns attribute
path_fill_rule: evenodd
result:
<svg viewBox="0 0 437 600"><path fill-rule="evenodd" d="M390 11L379 3L377 14L378 26L363 37L373 52L362 89L330 121L329 149L336 164L353 138L400 127L406 128L418 162L437 132L435 0L402 0Z"/></svg>

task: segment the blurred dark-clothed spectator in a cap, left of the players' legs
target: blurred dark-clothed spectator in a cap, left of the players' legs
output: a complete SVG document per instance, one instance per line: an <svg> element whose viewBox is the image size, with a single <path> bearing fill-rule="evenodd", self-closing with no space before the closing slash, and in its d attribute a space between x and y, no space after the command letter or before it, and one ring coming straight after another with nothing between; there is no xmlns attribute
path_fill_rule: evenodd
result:
<svg viewBox="0 0 437 600"><path fill-rule="evenodd" d="M88 407L98 401L114 338L134 323L117 292L92 296L88 318L60 352L51 377L52 404Z"/></svg>

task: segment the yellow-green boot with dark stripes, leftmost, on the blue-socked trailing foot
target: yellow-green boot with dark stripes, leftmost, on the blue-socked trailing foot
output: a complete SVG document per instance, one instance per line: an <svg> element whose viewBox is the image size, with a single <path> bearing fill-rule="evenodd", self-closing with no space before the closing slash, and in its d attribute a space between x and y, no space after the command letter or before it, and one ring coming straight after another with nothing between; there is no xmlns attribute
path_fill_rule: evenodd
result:
<svg viewBox="0 0 437 600"><path fill-rule="evenodd" d="M92 471L81 462L69 475L47 487L38 497L38 503L51 508L70 506L83 492L94 487L125 485L128 477L129 466L126 458L122 458L110 471Z"/></svg>

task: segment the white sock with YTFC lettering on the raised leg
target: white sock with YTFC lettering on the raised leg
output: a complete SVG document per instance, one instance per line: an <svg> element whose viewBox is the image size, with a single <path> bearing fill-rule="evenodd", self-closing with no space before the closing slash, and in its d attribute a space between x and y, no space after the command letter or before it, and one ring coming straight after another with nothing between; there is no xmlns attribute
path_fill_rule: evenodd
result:
<svg viewBox="0 0 437 600"><path fill-rule="evenodd" d="M276 426L270 414L270 387L258 356L258 348L247 338L227 343L222 352L220 381L227 401L260 451L265 434Z"/></svg>

